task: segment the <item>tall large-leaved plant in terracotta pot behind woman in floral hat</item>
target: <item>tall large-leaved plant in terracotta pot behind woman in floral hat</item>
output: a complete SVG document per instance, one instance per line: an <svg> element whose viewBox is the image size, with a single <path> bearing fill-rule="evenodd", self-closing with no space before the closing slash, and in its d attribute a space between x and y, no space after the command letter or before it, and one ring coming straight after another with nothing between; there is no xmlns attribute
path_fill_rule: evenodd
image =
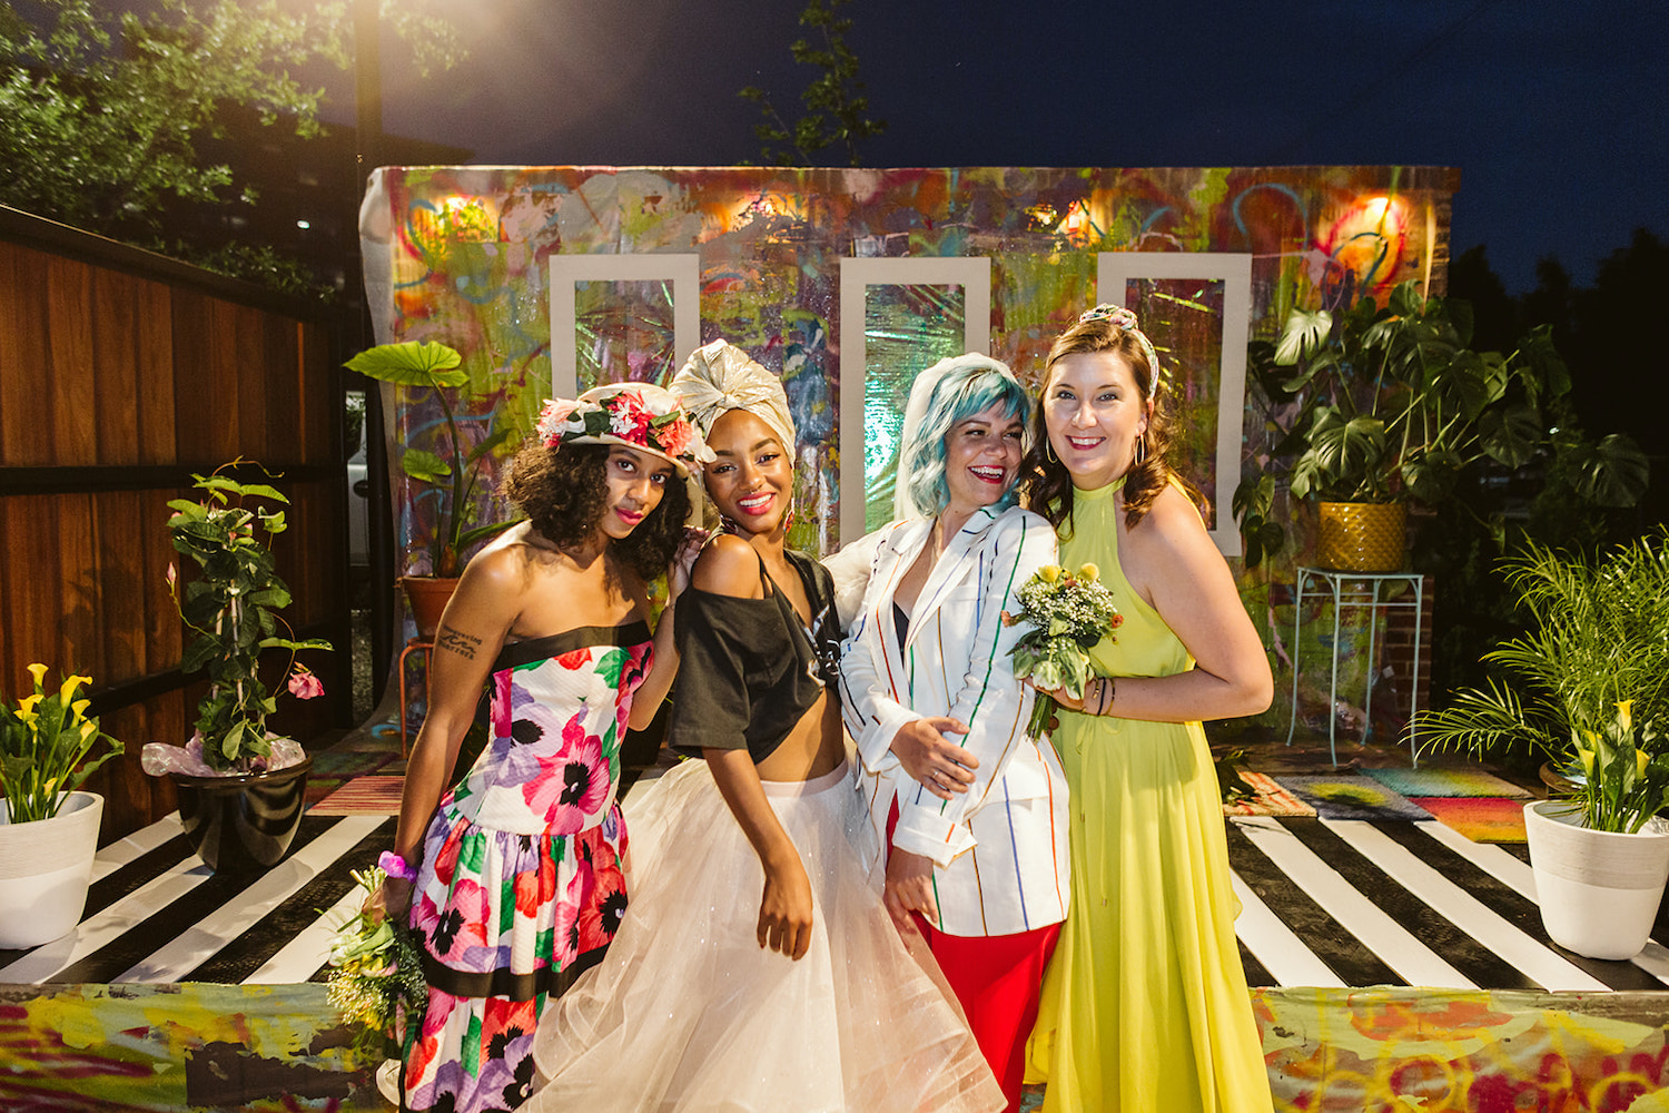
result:
<svg viewBox="0 0 1669 1113"><path fill-rule="evenodd" d="M431 576L404 576L407 597L412 602L419 631L434 632L441 609L451 597L462 569L462 554L472 544L486 541L514 521L492 522L489 526L469 526L474 514L476 482L481 462L511 436L509 427L489 432L486 437L469 446L457 429L449 392L469 384L469 372L462 369L462 355L452 347L439 342L419 344L404 340L401 344L379 344L366 349L347 360L347 369L355 370L377 382L392 382L414 390L429 390L441 404L444 426L437 427L432 449L406 446L401 454L401 469L416 482L431 484L439 497L434 539L429 549ZM441 431L444 429L444 436ZM439 449L439 451L436 451ZM432 582L424 582L432 581ZM439 606L431 602L431 596L439 596ZM419 612L421 609L421 612ZM434 621L429 621L432 616Z"/></svg>

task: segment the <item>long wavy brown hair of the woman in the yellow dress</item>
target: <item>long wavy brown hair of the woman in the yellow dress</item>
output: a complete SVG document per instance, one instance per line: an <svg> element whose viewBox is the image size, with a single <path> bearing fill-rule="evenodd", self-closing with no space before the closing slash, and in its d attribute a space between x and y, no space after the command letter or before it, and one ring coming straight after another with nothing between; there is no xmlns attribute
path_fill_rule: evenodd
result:
<svg viewBox="0 0 1669 1113"><path fill-rule="evenodd" d="M1043 382L1038 390L1038 405L1031 412L1031 449L1020 466L1025 476L1025 502L1041 514L1056 529L1071 521L1071 472L1050 451L1048 422L1045 409L1048 405L1048 380L1055 364L1066 355L1090 352L1113 352L1122 355L1135 374L1137 390L1143 405L1148 407L1148 427L1142 434L1147 441L1147 459L1132 464L1125 472L1125 527L1133 529L1153 507L1153 499L1173 481L1203 509L1203 496L1187 479L1172 471L1165 459L1172 442L1170 390L1163 379L1155 380L1155 367L1148 364L1142 344L1132 332L1120 329L1112 320L1080 320L1055 340L1043 364ZM1068 526L1070 531L1070 526ZM1070 536L1070 532L1068 532Z"/></svg>

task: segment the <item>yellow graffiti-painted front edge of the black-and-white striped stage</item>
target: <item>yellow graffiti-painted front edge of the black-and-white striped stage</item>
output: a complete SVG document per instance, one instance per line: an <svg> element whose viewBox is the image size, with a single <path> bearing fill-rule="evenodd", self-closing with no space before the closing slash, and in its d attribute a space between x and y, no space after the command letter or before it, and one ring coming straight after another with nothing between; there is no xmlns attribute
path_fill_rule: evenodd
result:
<svg viewBox="0 0 1669 1113"><path fill-rule="evenodd" d="M1666 993L1253 990L1277 1110L1669 1113ZM0 1108L387 1110L317 983L0 986Z"/></svg>

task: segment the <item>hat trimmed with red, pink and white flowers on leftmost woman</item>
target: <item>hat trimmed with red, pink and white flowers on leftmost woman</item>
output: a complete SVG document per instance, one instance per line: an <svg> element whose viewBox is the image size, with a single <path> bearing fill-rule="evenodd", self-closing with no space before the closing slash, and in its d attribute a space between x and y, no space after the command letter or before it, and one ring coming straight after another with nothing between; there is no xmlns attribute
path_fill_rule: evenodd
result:
<svg viewBox="0 0 1669 1113"><path fill-rule="evenodd" d="M611 382L574 400L549 399L534 432L551 451L564 444L619 444L659 456L678 469L689 492L684 526L701 524L701 466L713 459L713 449L669 390L648 382Z"/></svg>

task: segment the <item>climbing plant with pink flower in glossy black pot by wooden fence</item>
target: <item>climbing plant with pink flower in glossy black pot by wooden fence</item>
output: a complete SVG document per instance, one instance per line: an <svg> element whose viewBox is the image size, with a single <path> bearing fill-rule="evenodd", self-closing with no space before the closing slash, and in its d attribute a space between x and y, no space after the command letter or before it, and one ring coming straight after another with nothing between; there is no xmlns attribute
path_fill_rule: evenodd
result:
<svg viewBox="0 0 1669 1113"><path fill-rule="evenodd" d="M195 634L180 667L207 671L209 694L197 704L197 734L187 746L145 746L144 764L167 774L180 798L180 821L210 869L247 871L275 864L295 838L312 759L292 739L267 731L277 698L260 677L269 649L290 654L287 689L300 699L324 692L319 677L295 661L304 649L330 649L322 639L279 634L279 611L290 591L279 579L267 542L284 532L289 499L267 484L239 482L227 472L194 476L199 501L175 499L169 536L199 577L180 584L169 566L169 591L180 619Z"/></svg>

